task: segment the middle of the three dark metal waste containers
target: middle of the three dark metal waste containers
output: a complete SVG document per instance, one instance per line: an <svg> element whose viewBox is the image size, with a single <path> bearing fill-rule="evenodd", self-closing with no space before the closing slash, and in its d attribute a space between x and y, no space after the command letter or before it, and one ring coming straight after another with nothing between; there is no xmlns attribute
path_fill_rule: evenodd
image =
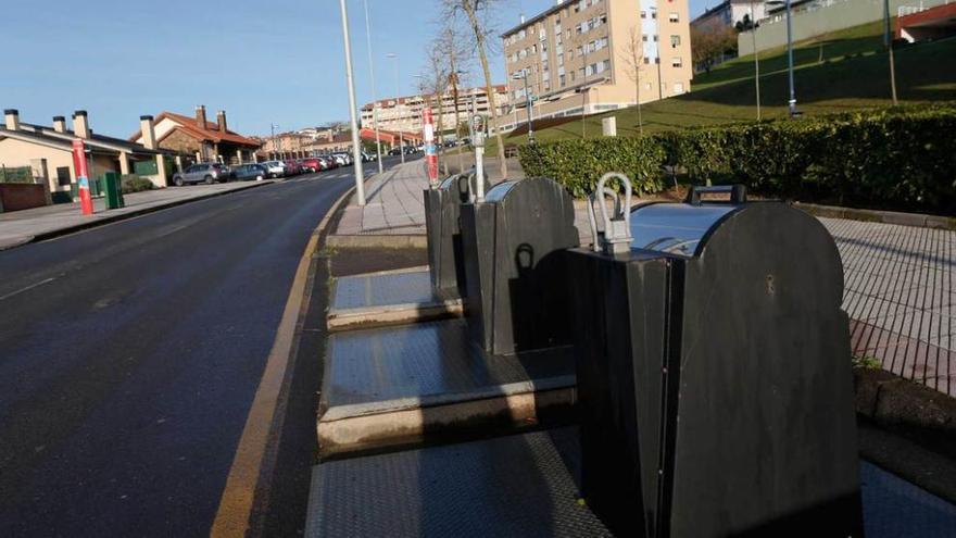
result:
<svg viewBox="0 0 956 538"><path fill-rule="evenodd" d="M471 338L493 354L569 343L564 255L579 239L567 191L546 178L504 182L461 211Z"/></svg>

